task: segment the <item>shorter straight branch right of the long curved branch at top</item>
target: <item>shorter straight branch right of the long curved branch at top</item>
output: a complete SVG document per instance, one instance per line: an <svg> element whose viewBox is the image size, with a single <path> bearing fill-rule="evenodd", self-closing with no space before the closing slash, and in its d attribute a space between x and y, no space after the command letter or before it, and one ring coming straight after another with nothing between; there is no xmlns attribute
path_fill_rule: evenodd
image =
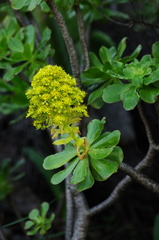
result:
<svg viewBox="0 0 159 240"><path fill-rule="evenodd" d="M87 42L86 42L86 38L85 38L83 16L82 16L79 5L75 6L75 11L76 11L76 17L77 17L80 42L82 45L84 60L85 60L85 68L84 69L87 70L90 67L89 52L88 52L88 46L87 46Z"/></svg>

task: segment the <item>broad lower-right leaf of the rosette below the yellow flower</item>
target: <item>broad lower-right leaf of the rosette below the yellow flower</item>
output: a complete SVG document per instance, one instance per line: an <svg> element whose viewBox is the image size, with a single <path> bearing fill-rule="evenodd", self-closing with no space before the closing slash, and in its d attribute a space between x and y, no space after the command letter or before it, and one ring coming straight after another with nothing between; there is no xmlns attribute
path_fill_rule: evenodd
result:
<svg viewBox="0 0 159 240"><path fill-rule="evenodd" d="M98 174L104 179L109 178L113 173L117 172L118 169L118 163L108 159L96 160L91 158L91 164Z"/></svg>

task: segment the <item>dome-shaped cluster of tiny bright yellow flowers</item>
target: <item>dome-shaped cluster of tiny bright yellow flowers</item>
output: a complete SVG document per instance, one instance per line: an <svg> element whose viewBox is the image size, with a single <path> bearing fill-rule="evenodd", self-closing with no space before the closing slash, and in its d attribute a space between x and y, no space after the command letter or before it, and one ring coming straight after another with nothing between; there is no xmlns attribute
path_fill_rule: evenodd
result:
<svg viewBox="0 0 159 240"><path fill-rule="evenodd" d="M51 127L53 137L77 133L75 123L88 116L87 107L82 105L85 95L61 67L48 65L33 77L26 92L30 101L27 117L34 119L37 129Z"/></svg>

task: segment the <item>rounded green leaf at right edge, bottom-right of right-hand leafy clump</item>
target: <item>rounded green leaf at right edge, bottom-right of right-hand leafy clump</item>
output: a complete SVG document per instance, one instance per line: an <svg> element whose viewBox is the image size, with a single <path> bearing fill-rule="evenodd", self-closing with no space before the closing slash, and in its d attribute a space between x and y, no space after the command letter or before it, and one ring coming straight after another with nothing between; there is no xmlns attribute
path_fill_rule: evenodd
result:
<svg viewBox="0 0 159 240"><path fill-rule="evenodd" d="M159 88L155 88L151 86L145 86L140 91L140 97L143 101L147 103L154 103L156 102L159 95Z"/></svg>

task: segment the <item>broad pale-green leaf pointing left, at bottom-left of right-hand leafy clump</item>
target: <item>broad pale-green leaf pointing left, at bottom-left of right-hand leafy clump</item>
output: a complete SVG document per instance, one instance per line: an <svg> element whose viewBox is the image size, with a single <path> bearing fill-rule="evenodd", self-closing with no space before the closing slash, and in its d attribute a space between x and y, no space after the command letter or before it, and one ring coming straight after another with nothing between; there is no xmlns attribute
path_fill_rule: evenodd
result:
<svg viewBox="0 0 159 240"><path fill-rule="evenodd" d="M103 90L103 100L106 103L113 103L120 101L120 95L125 90L132 86L129 84L113 84Z"/></svg>

